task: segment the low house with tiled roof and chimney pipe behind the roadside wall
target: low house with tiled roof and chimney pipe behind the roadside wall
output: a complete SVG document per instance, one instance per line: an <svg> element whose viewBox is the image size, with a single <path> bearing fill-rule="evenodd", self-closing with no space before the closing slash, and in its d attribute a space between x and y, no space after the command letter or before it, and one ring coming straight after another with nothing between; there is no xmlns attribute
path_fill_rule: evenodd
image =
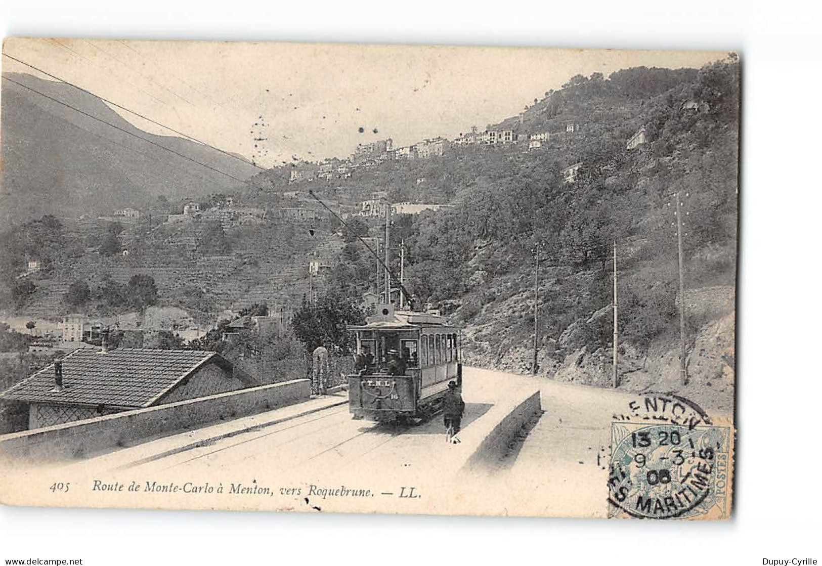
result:
<svg viewBox="0 0 822 566"><path fill-rule="evenodd" d="M79 348L0 393L0 401L28 404L34 429L252 385L216 352Z"/></svg>

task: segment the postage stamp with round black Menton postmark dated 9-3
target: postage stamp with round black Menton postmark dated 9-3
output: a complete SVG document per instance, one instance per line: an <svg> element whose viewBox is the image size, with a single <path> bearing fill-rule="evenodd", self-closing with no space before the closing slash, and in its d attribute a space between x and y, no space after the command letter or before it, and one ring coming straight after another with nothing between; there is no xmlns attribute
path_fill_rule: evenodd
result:
<svg viewBox="0 0 822 566"><path fill-rule="evenodd" d="M732 429L671 395L630 407L611 425L608 516L727 518Z"/></svg>

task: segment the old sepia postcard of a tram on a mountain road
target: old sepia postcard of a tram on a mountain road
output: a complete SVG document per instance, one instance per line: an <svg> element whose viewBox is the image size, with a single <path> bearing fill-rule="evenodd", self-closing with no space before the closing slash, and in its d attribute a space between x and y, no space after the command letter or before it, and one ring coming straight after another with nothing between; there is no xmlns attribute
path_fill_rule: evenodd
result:
<svg viewBox="0 0 822 566"><path fill-rule="evenodd" d="M725 519L737 53L7 39L0 502Z"/></svg>

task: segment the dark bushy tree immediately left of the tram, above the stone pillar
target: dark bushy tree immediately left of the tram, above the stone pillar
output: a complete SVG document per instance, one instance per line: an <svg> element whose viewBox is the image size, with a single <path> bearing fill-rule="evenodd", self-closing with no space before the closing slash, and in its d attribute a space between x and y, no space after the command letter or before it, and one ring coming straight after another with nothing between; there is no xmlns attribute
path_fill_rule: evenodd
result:
<svg viewBox="0 0 822 566"><path fill-rule="evenodd" d="M347 326L364 322L365 315L359 306L329 293L318 298L316 304L303 298L302 306L291 319L291 326L307 352L313 352L318 346L336 346L343 353L350 353Z"/></svg>

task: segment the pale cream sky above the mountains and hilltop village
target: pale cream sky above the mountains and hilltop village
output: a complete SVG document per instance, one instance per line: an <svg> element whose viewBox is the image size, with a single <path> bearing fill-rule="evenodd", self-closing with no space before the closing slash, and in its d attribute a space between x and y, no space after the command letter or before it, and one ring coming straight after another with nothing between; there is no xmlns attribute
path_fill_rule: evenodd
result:
<svg viewBox="0 0 822 566"><path fill-rule="evenodd" d="M727 54L110 39L7 39L3 51L265 167L344 158L387 137L402 146L482 131L576 74L699 68ZM51 80L5 57L2 71Z"/></svg>

